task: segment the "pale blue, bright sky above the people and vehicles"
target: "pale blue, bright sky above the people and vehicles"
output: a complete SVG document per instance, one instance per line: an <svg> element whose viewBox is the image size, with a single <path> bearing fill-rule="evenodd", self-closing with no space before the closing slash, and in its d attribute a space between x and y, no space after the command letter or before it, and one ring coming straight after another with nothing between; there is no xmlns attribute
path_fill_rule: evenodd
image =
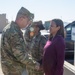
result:
<svg viewBox="0 0 75 75"><path fill-rule="evenodd" d="M75 20L75 0L0 0L0 14L6 13L9 21L15 20L22 6L35 14L34 21L54 18L66 22Z"/></svg>

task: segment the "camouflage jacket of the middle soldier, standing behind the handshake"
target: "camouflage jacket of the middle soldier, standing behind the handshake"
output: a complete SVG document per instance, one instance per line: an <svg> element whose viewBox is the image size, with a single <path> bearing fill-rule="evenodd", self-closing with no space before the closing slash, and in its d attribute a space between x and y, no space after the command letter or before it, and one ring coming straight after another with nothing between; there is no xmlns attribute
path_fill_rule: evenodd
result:
<svg viewBox="0 0 75 75"><path fill-rule="evenodd" d="M29 27L30 28L30 27ZM24 39L25 42L27 43L28 50L30 51L30 55L35 61L40 61L43 56L43 48L46 44L46 37L41 35L39 32L36 36L31 37L29 36L29 28L26 30Z"/></svg>

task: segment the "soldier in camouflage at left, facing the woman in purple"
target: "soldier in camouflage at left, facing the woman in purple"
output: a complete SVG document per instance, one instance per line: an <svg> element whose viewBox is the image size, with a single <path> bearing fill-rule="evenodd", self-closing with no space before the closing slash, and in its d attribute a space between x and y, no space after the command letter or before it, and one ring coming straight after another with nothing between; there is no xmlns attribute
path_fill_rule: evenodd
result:
<svg viewBox="0 0 75 75"><path fill-rule="evenodd" d="M30 61L28 51L21 32L21 28L30 24L33 14L22 7L16 16L15 22L7 25L1 37L1 65L4 75L21 75L23 68Z"/></svg>

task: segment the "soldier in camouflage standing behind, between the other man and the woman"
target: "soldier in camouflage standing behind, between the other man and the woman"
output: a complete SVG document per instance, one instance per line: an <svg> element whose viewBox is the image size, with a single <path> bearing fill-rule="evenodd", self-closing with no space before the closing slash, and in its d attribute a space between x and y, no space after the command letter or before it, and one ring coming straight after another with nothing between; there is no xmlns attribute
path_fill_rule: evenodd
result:
<svg viewBox="0 0 75 75"><path fill-rule="evenodd" d="M44 29L42 22L37 21L26 29L24 39L29 48L29 54L32 56L33 60L37 62L36 65L29 63L26 65L28 70L28 75L44 75L42 67L42 56L43 48L46 44L47 39L45 36L41 35L40 30Z"/></svg>

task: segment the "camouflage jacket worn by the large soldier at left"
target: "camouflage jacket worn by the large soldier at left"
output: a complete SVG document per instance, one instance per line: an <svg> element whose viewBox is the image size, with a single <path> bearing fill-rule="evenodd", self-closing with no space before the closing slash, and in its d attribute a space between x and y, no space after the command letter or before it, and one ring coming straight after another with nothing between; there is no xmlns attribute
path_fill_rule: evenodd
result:
<svg viewBox="0 0 75 75"><path fill-rule="evenodd" d="M6 65L11 71L12 69L21 71L30 61L34 62L28 57L22 32L15 22L11 22L3 29L1 37L2 67Z"/></svg>

